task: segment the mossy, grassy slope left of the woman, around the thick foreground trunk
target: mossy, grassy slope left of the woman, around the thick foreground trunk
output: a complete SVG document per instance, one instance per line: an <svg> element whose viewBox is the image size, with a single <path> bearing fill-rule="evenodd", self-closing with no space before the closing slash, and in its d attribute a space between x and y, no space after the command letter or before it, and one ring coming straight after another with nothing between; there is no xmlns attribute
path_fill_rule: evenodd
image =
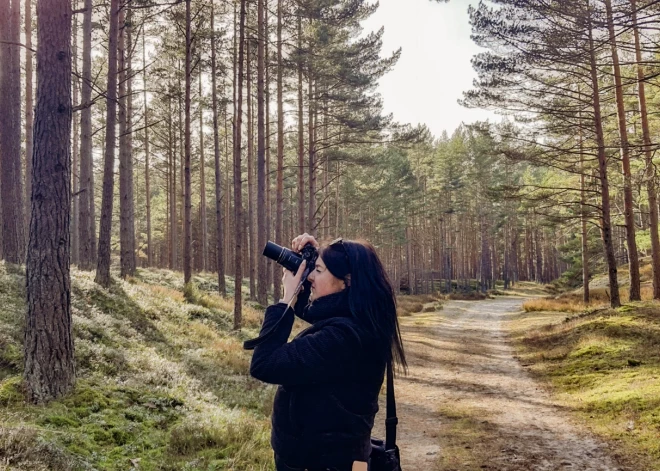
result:
<svg viewBox="0 0 660 471"><path fill-rule="evenodd" d="M8 469L272 470L274 389L248 375L233 301L212 275L184 293L180 274L140 271L108 289L72 272L75 391L23 399L24 272L0 264L0 456ZM6 468L3 468L6 469Z"/></svg>

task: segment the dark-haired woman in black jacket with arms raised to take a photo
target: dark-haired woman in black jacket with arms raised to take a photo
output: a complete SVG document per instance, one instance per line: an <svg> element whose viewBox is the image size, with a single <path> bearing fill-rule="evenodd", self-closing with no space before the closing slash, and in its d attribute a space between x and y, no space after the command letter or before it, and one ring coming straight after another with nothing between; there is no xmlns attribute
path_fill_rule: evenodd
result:
<svg viewBox="0 0 660 471"><path fill-rule="evenodd" d="M262 332L284 318L255 348L250 374L280 385L271 435L278 471L366 470L386 364L406 368L394 291L369 243L321 248L303 234L291 245L299 252L308 243L319 251L316 267L299 296L305 262L295 276L284 272L284 297L266 310ZM312 325L287 343L294 311Z"/></svg>

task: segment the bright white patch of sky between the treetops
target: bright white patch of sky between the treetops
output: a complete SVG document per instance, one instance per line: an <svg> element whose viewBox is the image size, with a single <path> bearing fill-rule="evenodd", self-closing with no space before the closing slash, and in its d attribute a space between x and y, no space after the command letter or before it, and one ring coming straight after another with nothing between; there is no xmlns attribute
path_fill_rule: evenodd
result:
<svg viewBox="0 0 660 471"><path fill-rule="evenodd" d="M440 137L461 122L499 119L492 112L457 103L476 73L470 59L479 52L470 39L468 5L478 0L380 0L380 8L364 23L366 31L385 27L383 55L402 48L401 59L381 79L385 112L400 123L426 124Z"/></svg>

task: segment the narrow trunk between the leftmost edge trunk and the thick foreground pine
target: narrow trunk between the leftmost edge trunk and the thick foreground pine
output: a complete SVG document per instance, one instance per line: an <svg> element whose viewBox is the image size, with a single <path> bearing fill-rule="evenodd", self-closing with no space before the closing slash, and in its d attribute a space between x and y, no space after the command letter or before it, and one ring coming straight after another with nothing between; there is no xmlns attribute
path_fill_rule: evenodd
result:
<svg viewBox="0 0 660 471"><path fill-rule="evenodd" d="M30 208L32 194L32 127L34 126L34 103L32 64L32 0L25 0L25 205ZM76 171L76 169L73 169ZM26 211L25 225L30 224L30 214ZM1 250L0 250L1 253Z"/></svg>

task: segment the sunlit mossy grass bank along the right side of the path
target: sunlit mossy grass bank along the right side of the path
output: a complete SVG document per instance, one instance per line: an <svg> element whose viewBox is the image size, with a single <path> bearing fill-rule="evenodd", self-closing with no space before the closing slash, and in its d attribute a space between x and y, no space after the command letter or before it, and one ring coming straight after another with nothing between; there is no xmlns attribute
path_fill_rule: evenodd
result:
<svg viewBox="0 0 660 471"><path fill-rule="evenodd" d="M584 306L551 301L526 303L508 324L522 363L630 469L660 470L660 306L567 315Z"/></svg>

